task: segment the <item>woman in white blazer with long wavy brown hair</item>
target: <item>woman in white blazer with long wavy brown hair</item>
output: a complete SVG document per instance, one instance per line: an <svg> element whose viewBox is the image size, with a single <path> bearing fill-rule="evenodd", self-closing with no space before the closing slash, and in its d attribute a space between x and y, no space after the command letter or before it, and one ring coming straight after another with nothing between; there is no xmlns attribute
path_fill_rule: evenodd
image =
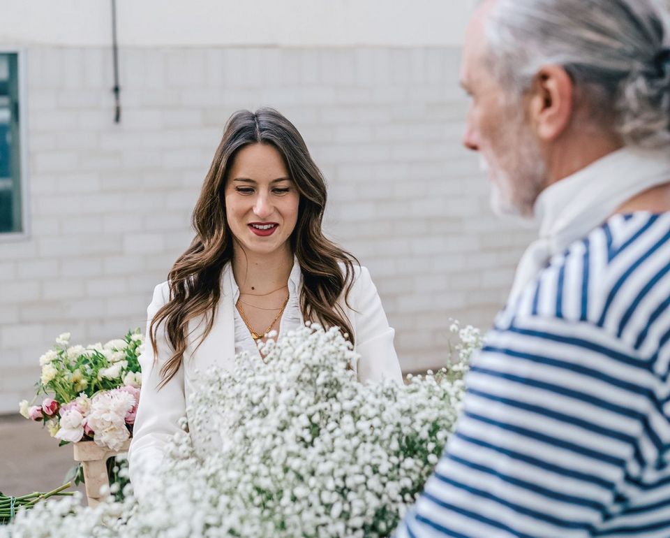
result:
<svg viewBox="0 0 670 538"><path fill-rule="evenodd" d="M195 239L147 309L128 455L140 497L180 429L195 370L258 354L271 330L281 337L304 321L338 326L361 356L352 365L361 381L402 382L394 330L368 271L322 235L325 202L325 180L288 119L269 108L232 115L195 205Z"/></svg>

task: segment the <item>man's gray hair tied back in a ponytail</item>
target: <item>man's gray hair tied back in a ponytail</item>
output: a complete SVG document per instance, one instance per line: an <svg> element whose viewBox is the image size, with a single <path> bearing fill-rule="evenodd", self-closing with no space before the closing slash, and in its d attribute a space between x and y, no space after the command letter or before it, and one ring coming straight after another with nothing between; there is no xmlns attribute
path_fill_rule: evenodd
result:
<svg viewBox="0 0 670 538"><path fill-rule="evenodd" d="M624 143L670 144L667 0L497 0L491 66L517 96L544 65L565 68L578 99Z"/></svg>

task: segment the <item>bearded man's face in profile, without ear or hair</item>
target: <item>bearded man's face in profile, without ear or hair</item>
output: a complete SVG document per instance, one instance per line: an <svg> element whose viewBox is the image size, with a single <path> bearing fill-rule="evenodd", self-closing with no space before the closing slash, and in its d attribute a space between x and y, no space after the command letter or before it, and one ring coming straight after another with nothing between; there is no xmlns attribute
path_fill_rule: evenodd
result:
<svg viewBox="0 0 670 538"><path fill-rule="evenodd" d="M544 188L546 164L526 121L525 102L506 94L487 62L484 22L493 3L479 8L466 34L461 85L470 96L470 108L463 145L481 154L491 180L493 211L531 216Z"/></svg>

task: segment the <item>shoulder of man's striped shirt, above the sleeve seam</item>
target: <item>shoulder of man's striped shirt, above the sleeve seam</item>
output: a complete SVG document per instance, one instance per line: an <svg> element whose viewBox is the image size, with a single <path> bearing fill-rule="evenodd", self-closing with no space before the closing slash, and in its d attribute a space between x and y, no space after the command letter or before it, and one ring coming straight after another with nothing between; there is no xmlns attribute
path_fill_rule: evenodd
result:
<svg viewBox="0 0 670 538"><path fill-rule="evenodd" d="M649 345L670 315L670 213L615 215L553 256L506 318L585 322L634 349Z"/></svg>

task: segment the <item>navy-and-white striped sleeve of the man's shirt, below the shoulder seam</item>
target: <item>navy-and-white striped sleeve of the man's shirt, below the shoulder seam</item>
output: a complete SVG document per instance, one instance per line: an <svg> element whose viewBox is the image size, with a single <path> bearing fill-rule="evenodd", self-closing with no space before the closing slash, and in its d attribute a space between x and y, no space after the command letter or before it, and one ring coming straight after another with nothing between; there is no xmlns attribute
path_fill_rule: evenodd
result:
<svg viewBox="0 0 670 538"><path fill-rule="evenodd" d="M664 451L657 382L596 323L516 317L473 363L456 432L396 536L599 534Z"/></svg>

